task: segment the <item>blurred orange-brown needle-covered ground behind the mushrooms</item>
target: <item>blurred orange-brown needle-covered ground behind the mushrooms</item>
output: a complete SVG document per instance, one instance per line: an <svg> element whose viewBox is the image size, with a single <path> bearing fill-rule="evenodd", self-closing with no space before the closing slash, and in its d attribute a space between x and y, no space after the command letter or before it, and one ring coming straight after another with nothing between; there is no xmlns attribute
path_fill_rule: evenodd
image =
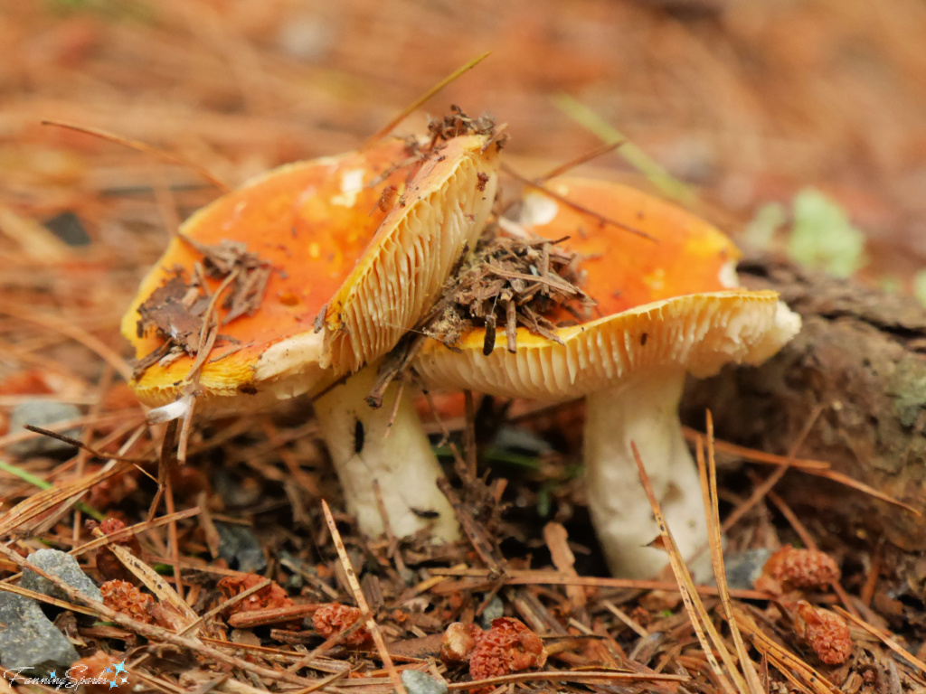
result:
<svg viewBox="0 0 926 694"><path fill-rule="evenodd" d="M921 0L2 3L4 368L98 374L100 349L82 368L64 328L126 353L138 280L218 194L191 167L43 119L236 185L357 146L485 51L398 131L451 104L492 114L525 174L626 137L585 168L926 297L923 36Z"/></svg>

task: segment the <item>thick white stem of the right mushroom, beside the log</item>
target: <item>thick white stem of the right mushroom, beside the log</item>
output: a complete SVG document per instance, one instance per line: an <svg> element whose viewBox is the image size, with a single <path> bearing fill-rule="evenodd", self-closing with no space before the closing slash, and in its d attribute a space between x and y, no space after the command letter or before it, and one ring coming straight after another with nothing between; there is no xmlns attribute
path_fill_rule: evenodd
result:
<svg viewBox="0 0 926 694"><path fill-rule="evenodd" d="M636 443L669 530L682 557L707 542L707 520L697 468L682 437L679 401L685 372L665 368L624 380L587 398L585 477L595 531L614 576L649 578L669 563L646 547L659 535L633 460ZM707 552L695 579L710 576ZM691 566L690 566L691 568Z"/></svg>

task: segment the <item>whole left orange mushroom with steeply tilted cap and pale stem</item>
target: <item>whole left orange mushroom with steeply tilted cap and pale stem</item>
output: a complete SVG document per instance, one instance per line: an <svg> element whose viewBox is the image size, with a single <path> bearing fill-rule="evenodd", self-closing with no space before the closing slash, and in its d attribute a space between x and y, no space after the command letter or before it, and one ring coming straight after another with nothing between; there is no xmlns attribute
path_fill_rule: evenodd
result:
<svg viewBox="0 0 926 694"><path fill-rule="evenodd" d="M397 536L430 526L435 539L457 537L434 484L440 467L410 405L394 408L394 388L382 409L364 399L376 361L438 298L482 232L497 181L491 143L490 134L451 138L405 167L398 166L409 163L400 142L299 162L199 210L123 318L122 332L146 366L132 380L138 397L165 405L170 417L194 396L197 409L214 412L314 396L346 506L363 532L384 529L378 480ZM202 273L194 267L204 256L238 274L226 289L231 308L219 302L226 314L202 363L203 304L219 288L219 279L206 277L206 295L196 293ZM263 282L266 291L246 293ZM229 311L240 315L228 319ZM317 316L323 329L314 327Z"/></svg>

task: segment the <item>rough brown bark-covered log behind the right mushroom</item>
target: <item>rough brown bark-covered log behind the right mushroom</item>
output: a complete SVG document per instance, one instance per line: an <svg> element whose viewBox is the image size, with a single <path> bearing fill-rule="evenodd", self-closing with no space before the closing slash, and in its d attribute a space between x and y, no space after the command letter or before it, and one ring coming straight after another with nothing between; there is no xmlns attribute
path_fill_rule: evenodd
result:
<svg viewBox="0 0 926 694"><path fill-rule="evenodd" d="M753 255L740 266L750 289L773 289L804 319L794 341L758 368L731 368L689 383L683 418L718 437L787 452L817 419L798 455L926 511L926 310L843 279ZM779 490L795 510L904 551L926 550L926 518L799 472Z"/></svg>

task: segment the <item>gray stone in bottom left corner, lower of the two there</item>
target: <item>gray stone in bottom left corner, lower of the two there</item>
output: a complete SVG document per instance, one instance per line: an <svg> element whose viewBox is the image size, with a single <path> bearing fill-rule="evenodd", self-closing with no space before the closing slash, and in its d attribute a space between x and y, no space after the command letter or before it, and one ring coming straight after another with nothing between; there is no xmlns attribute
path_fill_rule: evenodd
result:
<svg viewBox="0 0 926 694"><path fill-rule="evenodd" d="M79 657L35 601L0 593L0 663L6 670L24 668L23 677L44 677L67 670Z"/></svg>

